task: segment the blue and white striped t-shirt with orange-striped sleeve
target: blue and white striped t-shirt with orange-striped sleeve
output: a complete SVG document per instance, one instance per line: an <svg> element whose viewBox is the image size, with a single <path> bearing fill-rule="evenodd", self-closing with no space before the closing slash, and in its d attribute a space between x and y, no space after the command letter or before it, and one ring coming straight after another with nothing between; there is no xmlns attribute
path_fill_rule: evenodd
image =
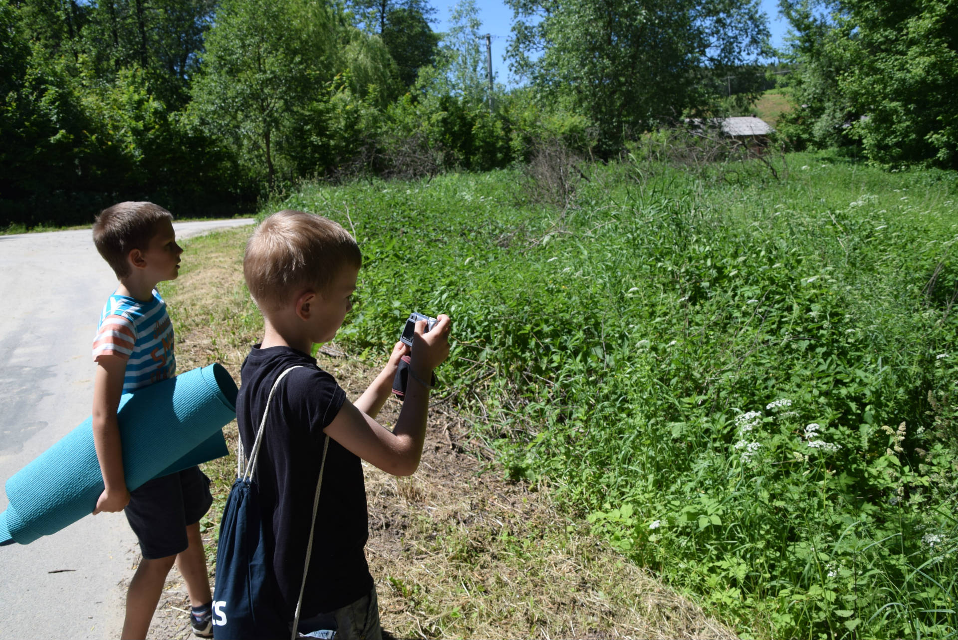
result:
<svg viewBox="0 0 958 640"><path fill-rule="evenodd" d="M152 293L148 302L114 293L100 314L93 360L103 354L127 358L124 393L165 380L176 372L167 304L156 289Z"/></svg>

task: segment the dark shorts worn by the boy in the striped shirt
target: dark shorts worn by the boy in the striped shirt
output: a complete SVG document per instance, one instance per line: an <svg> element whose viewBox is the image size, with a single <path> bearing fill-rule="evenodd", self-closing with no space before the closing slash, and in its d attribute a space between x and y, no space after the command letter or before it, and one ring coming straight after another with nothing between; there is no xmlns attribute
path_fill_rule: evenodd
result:
<svg viewBox="0 0 958 640"><path fill-rule="evenodd" d="M130 491L124 513L146 560L175 556L190 545L187 525L210 511L210 479L198 467L153 478Z"/></svg>

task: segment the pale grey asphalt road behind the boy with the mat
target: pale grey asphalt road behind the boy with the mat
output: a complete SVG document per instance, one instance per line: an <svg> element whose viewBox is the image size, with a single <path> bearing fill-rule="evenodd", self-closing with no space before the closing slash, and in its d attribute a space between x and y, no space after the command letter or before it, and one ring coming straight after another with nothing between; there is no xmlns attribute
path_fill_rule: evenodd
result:
<svg viewBox="0 0 958 640"><path fill-rule="evenodd" d="M173 228L179 240L252 222ZM0 236L0 482L90 414L90 346L115 286L89 230ZM0 511L6 508L0 491ZM120 637L125 593L118 583L132 576L135 561L136 537L122 513L0 547L0 638Z"/></svg>

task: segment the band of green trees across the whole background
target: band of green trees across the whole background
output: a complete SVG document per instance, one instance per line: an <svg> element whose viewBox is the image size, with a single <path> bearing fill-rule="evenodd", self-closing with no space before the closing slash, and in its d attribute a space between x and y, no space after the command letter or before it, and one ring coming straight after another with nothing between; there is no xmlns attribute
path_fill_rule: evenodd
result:
<svg viewBox="0 0 958 640"><path fill-rule="evenodd" d="M780 0L793 145L958 163L958 0ZM747 113L758 0L510 0L523 87L490 86L475 0L0 0L0 224L119 199L235 212L304 178L610 157ZM545 141L545 143L543 143ZM543 146L543 144L545 146Z"/></svg>

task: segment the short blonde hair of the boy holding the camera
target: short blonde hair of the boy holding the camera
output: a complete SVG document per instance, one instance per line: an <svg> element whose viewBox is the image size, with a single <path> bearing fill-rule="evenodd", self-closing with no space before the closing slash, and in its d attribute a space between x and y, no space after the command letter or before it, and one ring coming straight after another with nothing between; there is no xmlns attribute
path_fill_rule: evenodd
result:
<svg viewBox="0 0 958 640"><path fill-rule="evenodd" d="M358 269L353 236L327 217L286 209L264 219L246 242L242 274L262 311L282 308L304 287L322 293L345 265Z"/></svg>

